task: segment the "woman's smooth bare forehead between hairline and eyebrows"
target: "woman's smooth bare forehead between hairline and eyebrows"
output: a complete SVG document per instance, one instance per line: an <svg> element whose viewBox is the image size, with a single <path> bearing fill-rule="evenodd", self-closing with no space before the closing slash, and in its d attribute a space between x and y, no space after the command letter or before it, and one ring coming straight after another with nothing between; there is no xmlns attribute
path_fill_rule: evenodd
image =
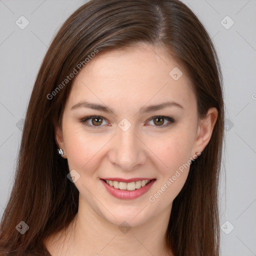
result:
<svg viewBox="0 0 256 256"><path fill-rule="evenodd" d="M97 53L74 77L69 101L92 97L127 105L172 99L188 105L192 93L183 68L164 48L141 44Z"/></svg>

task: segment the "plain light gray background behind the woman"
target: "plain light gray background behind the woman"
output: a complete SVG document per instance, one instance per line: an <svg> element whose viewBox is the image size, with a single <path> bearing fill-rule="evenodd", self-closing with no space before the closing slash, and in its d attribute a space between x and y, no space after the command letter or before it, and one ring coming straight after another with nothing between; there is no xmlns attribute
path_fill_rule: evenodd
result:
<svg viewBox="0 0 256 256"><path fill-rule="evenodd" d="M62 22L85 2L0 0L0 216L11 190L22 118L40 63ZM256 255L256 0L183 2L212 37L224 78L221 255ZM21 15L29 21L24 29L15 23ZM234 21L228 29L232 21L227 15Z"/></svg>

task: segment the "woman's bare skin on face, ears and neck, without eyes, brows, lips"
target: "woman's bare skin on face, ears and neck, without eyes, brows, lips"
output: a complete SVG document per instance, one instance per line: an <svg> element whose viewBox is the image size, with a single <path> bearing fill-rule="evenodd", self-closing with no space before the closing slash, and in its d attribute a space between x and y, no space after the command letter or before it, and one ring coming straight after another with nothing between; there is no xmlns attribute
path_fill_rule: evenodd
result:
<svg viewBox="0 0 256 256"><path fill-rule="evenodd" d="M174 80L169 72L178 67L183 75ZM189 168L153 202L154 195L176 170L210 140L217 109L205 119L197 116L196 98L185 70L160 46L140 44L133 48L99 52L74 77L66 101L62 127L56 127L56 143L63 149L69 170L80 177L78 212L64 230L45 240L52 256L57 255L173 255L164 243L172 201L181 190ZM106 105L114 113L71 107L83 100ZM142 113L141 107L175 101L183 108L168 106ZM96 128L96 115L103 118ZM154 116L174 119L157 125ZM131 127L118 123L126 118ZM164 126L169 123L168 126ZM200 156L198 156L200 157ZM99 178L156 178L149 191L138 198L117 199ZM71 182L71 181L70 181ZM118 226L131 227L122 233ZM65 234L65 235L64 235Z"/></svg>

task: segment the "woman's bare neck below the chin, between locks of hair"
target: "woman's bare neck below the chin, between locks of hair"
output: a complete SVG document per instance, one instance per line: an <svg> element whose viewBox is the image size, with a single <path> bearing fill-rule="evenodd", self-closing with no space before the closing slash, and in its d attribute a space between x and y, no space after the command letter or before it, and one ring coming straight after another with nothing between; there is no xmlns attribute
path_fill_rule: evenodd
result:
<svg viewBox="0 0 256 256"><path fill-rule="evenodd" d="M171 205L137 226L117 225L98 215L79 196L78 212L66 232L59 232L46 247L52 256L173 255L165 245L170 210Z"/></svg>

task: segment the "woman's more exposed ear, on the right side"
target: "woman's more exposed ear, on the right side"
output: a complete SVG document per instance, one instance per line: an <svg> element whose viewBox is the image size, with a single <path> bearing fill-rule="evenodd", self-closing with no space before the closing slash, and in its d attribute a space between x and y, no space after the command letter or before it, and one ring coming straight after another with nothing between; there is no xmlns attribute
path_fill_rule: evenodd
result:
<svg viewBox="0 0 256 256"><path fill-rule="evenodd" d="M215 107L211 107L209 108L205 118L200 119L191 155L193 155L196 151L202 152L204 147L208 144L217 120L217 116L218 110Z"/></svg>

